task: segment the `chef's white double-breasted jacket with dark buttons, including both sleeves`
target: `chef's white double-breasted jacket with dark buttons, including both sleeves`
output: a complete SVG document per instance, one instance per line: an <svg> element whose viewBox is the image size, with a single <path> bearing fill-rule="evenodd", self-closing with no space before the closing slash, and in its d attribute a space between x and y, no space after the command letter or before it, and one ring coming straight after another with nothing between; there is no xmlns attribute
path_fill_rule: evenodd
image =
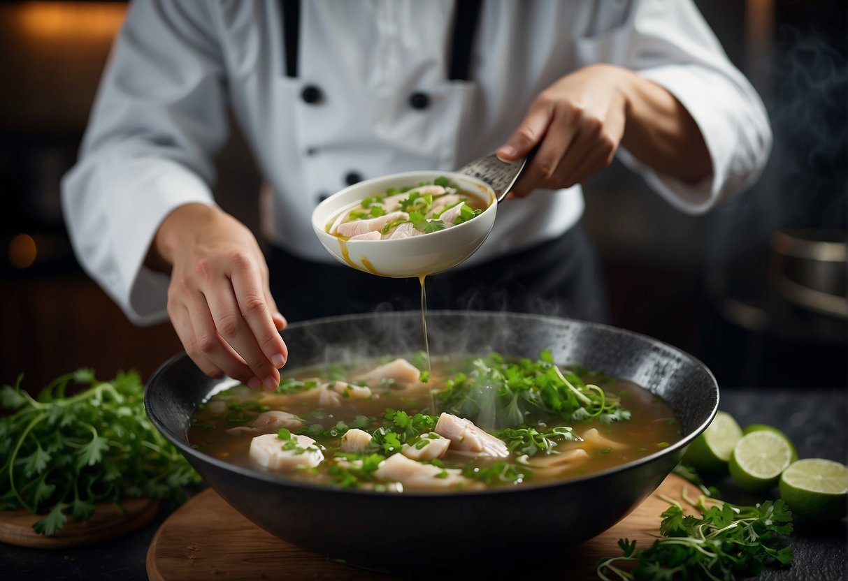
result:
<svg viewBox="0 0 848 581"><path fill-rule="evenodd" d="M673 206L705 212L762 170L771 147L765 109L690 0L488 0L470 80L447 78L454 4L304 0L292 78L275 0L131 3L80 159L63 180L82 266L133 322L165 317L168 277L144 259L174 208L215 203L212 158L228 135L227 105L272 192L265 235L315 261L332 258L310 215L350 172L456 169L499 147L540 91L587 64L638 71L695 119L714 170L701 183L618 152ZM305 86L318 87L321 101L305 102ZM429 97L427 108L410 108L414 92ZM505 202L467 263L550 240L582 212L579 186Z"/></svg>

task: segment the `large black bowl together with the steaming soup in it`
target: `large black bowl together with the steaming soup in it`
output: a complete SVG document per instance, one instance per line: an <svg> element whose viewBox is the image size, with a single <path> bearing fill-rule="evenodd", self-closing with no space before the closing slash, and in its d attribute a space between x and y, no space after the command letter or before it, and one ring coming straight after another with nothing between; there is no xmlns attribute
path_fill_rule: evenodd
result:
<svg viewBox="0 0 848 581"><path fill-rule="evenodd" d="M209 484L260 527L360 567L409 572L483 554L497 554L499 566L526 566L527 555L545 558L538 548L551 539L567 547L600 534L656 490L717 410L709 370L643 335L564 318L434 312L427 376L414 357L418 324L417 312L292 324L282 333L290 362L299 362L304 374L284 370L278 392L248 392L232 380L206 377L185 355L176 357L148 382L148 415ZM493 353L503 356L493 359ZM392 385L385 369L373 373L398 354L407 354L418 374L410 385L403 379ZM562 374L584 396L596 385L604 407L560 414L556 425L550 414L556 399L549 396L540 396L541 412L531 405L533 396L511 408L509 401L488 406L481 395L489 383L486 368L517 383L524 372ZM310 381L316 385L303 389ZM444 389L431 394L420 384ZM365 388L369 396L355 392ZM321 389L329 398L323 402L315 392ZM247 403L263 400L259 407ZM256 419L272 411L280 412L276 419L291 420L289 414L298 422L260 433L267 425L254 425ZM601 413L614 417L601 420ZM461 421L448 418L446 431L438 425L445 414ZM536 434L527 427L510 434L507 426L516 422ZM497 441L475 429L483 426ZM368 436L363 449L333 449L354 429ZM633 445L633 432L646 439ZM301 435L312 441L295 439ZM250 454L255 438L271 440L264 455ZM545 445L556 453L545 453ZM428 474L406 479L407 460L418 460L404 451L429 453L431 446L444 446L444 455L424 457L419 463ZM307 459L305 468L288 469L291 458L282 452ZM392 458L399 466L388 468L398 472L382 470ZM563 458L550 471L543 465ZM477 478L485 474L488 481ZM437 551L438 560L422 559L422 547Z"/></svg>

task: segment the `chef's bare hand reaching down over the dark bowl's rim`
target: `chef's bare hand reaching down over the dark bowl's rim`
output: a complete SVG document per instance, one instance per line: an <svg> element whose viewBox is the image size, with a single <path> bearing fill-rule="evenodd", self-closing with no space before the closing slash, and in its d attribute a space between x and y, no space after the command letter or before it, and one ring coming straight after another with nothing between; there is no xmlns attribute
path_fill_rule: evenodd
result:
<svg viewBox="0 0 848 581"><path fill-rule="evenodd" d="M254 388L279 385L288 349L278 330L286 319L247 227L220 208L186 204L159 226L147 263L170 270L168 314L198 368Z"/></svg>

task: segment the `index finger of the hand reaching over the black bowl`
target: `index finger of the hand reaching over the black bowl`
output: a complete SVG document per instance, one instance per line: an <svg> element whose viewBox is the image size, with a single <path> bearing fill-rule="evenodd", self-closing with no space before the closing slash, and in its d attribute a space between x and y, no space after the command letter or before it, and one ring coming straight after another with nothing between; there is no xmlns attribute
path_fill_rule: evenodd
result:
<svg viewBox="0 0 848 581"><path fill-rule="evenodd" d="M276 312L276 304L273 299L268 302L271 294L268 285L259 284L262 276L259 269L251 264L237 268L231 276L238 307L243 313L254 340L274 368L282 368L288 358L288 348L272 316L272 313ZM276 379L279 385L279 377L276 376Z"/></svg>

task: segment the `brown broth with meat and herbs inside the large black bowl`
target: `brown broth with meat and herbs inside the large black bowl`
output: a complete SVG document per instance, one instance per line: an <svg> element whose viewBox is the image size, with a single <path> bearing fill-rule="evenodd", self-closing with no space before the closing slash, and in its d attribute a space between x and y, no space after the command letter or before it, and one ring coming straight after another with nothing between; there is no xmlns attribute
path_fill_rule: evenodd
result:
<svg viewBox="0 0 848 581"><path fill-rule="evenodd" d="M303 369L270 393L239 385L213 396L189 430L192 445L241 466L386 492L568 479L679 439L659 398L556 365L550 351L443 357L428 374L404 358Z"/></svg>

